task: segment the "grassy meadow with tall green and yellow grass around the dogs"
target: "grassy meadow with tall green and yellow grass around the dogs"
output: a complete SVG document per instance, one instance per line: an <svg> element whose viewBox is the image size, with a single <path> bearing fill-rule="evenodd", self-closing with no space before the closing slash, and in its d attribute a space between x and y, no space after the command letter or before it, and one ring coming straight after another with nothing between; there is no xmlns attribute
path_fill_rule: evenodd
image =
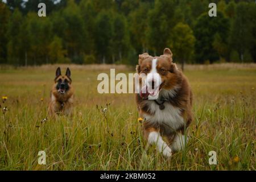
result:
<svg viewBox="0 0 256 182"><path fill-rule="evenodd" d="M71 65L75 114L41 123L56 68L0 68L0 96L7 96L0 112L1 170L255 170L255 64L185 67L195 119L187 146L171 159L145 147L134 94L97 93L97 75L109 66ZM120 65L116 72L134 70ZM96 105L109 103L105 119ZM45 166L38 164L42 150ZM209 151L217 152L217 165L209 165Z"/></svg>

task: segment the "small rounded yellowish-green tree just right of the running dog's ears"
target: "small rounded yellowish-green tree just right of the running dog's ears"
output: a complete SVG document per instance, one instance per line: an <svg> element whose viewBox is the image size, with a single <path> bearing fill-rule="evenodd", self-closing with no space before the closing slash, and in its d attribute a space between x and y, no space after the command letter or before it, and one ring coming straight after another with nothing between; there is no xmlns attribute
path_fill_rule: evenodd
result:
<svg viewBox="0 0 256 182"><path fill-rule="evenodd" d="M193 31L188 24L178 23L172 30L169 44L174 54L174 60L181 62L182 70L184 69L185 61L189 60L193 53L195 41Z"/></svg>

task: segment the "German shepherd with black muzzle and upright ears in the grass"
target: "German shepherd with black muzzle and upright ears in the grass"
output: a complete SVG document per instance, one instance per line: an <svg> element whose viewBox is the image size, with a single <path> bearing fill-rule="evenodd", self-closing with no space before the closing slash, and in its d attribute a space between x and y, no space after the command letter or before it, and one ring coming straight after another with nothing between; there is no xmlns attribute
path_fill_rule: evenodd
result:
<svg viewBox="0 0 256 182"><path fill-rule="evenodd" d="M51 102L48 113L50 115L63 113L71 115L73 109L73 86L71 85L71 71L67 68L65 76L61 75L60 67L56 69L56 76L51 90Z"/></svg>

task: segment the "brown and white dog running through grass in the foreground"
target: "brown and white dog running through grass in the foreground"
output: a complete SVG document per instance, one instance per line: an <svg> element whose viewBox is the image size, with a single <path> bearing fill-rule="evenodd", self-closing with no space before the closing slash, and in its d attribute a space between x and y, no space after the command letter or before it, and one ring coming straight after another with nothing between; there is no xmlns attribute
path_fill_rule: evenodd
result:
<svg viewBox="0 0 256 182"><path fill-rule="evenodd" d="M172 52L152 57L139 55L137 72L144 73L144 86L137 94L140 117L144 118L143 135L149 144L156 144L158 151L171 156L187 140L185 130L192 121L192 91L187 78L172 62ZM151 89L148 89L151 88ZM150 91L149 91L150 90ZM164 140L163 138L166 138Z"/></svg>

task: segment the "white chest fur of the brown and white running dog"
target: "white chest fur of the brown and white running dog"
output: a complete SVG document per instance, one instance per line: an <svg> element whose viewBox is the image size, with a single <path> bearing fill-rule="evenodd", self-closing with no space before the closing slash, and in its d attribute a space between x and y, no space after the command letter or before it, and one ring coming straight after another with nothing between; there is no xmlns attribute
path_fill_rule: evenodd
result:
<svg viewBox="0 0 256 182"><path fill-rule="evenodd" d="M172 106L170 103L164 102L165 108L160 110L159 105L157 105L154 101L151 100L147 102L150 111L154 112L155 114L144 114L143 117L146 119L146 121L165 124L172 130L177 130L184 126L184 119L181 117L181 110L179 108Z"/></svg>

